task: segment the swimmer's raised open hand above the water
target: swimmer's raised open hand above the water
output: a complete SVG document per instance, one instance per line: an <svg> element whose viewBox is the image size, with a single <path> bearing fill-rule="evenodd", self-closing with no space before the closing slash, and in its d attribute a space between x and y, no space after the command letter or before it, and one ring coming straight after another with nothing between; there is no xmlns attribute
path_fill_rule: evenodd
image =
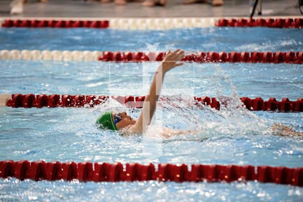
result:
<svg viewBox="0 0 303 202"><path fill-rule="evenodd" d="M174 52L169 51L163 59L162 65L159 66L159 70L162 70L162 73L165 74L169 70L183 65L180 60L184 58L184 53L181 49L176 49Z"/></svg>

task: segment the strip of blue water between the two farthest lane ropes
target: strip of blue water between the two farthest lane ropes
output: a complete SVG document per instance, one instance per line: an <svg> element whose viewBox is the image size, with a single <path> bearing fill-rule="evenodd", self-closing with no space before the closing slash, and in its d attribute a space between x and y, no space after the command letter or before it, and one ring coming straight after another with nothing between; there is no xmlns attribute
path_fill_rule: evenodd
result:
<svg viewBox="0 0 303 202"><path fill-rule="evenodd" d="M144 43L160 43L158 50L252 52L301 51L301 29L203 28L165 31L112 29L2 28L1 49L48 49L70 51L143 51Z"/></svg>

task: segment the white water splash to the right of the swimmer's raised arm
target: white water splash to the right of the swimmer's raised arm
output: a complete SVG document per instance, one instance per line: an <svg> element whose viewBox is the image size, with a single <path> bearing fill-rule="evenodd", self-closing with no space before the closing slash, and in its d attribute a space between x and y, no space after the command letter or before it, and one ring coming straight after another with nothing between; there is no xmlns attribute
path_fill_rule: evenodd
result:
<svg viewBox="0 0 303 202"><path fill-rule="evenodd" d="M220 65L213 67L213 79L209 85L216 86L220 111L210 106L194 105L194 100L190 98L186 102L179 102L178 97L169 97L169 102L159 107L167 114L166 125L175 129L187 129L191 125L191 129L199 131L193 134L202 139L213 135L245 136L270 133L268 121L243 107L228 73ZM171 119L170 115L176 118Z"/></svg>

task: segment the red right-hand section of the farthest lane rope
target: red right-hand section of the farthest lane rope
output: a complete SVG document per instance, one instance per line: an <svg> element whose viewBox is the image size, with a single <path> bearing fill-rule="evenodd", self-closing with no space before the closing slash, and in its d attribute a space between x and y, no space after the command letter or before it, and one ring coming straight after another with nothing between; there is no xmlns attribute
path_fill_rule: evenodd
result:
<svg viewBox="0 0 303 202"><path fill-rule="evenodd" d="M303 28L303 18L288 19L220 19L215 23L218 27L272 27Z"/></svg>

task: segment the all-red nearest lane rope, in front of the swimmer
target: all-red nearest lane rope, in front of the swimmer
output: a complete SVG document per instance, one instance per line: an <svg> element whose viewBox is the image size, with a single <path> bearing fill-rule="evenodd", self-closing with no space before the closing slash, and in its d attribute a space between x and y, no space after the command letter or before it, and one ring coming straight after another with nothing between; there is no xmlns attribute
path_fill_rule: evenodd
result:
<svg viewBox="0 0 303 202"><path fill-rule="evenodd" d="M125 168L125 169L124 169ZM137 163L94 163L91 162L28 162L1 161L0 177L15 177L20 180L66 180L118 182L118 181L174 181L174 182L232 182L257 180L262 183L289 184L303 186L303 168L238 165L200 165L188 166L159 164L140 165Z"/></svg>

